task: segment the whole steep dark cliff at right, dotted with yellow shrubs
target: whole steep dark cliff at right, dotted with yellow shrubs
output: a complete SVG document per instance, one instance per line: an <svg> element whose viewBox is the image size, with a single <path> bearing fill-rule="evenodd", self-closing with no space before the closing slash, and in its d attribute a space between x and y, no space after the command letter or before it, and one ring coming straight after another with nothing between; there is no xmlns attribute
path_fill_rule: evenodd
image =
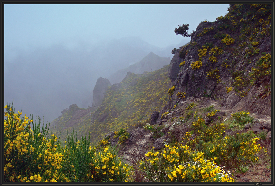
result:
<svg viewBox="0 0 275 186"><path fill-rule="evenodd" d="M168 76L175 89L169 106L178 92L185 92L187 97L212 97L225 108L270 116L269 8L231 5L217 21L202 21L171 60Z"/></svg>

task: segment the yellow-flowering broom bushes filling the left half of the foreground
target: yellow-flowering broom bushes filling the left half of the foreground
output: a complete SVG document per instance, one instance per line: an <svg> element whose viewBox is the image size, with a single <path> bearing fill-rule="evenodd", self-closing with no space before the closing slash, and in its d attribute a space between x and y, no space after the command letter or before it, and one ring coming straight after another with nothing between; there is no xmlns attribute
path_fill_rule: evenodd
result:
<svg viewBox="0 0 275 186"><path fill-rule="evenodd" d="M4 182L124 182L132 167L117 157L116 147L91 147L86 135L68 134L61 146L41 120L21 117L4 107ZM32 129L31 130L31 125Z"/></svg>

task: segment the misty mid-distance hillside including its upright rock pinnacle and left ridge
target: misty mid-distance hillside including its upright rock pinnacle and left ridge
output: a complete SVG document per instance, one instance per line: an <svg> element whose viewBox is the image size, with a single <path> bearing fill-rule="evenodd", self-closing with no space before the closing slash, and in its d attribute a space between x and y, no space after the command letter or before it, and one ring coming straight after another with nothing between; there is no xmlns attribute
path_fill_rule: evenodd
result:
<svg viewBox="0 0 275 186"><path fill-rule="evenodd" d="M128 72L121 83L111 85L99 78L94 89L94 106L87 109L71 105L51 123L51 130L61 131L65 139L73 130L91 133L91 143L98 142L109 131L142 126L151 112L160 111L168 99L169 66L143 74ZM56 133L55 132L55 133Z"/></svg>

